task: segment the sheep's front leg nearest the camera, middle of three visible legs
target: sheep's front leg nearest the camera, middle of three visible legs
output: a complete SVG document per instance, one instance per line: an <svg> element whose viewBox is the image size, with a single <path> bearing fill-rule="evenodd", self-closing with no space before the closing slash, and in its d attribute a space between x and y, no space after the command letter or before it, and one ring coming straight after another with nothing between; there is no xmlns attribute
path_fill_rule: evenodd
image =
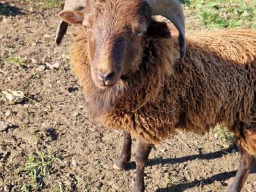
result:
<svg viewBox="0 0 256 192"><path fill-rule="evenodd" d="M148 162L148 156L150 155L151 147L151 143L145 142L144 140L140 140L138 150L135 155L136 178L132 192L143 192L145 190L144 169Z"/></svg>

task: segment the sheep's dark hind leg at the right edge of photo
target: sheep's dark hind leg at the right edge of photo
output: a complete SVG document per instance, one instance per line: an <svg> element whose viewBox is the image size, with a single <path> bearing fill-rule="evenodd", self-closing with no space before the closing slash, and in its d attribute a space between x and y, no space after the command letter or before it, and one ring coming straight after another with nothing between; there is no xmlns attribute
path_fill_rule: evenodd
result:
<svg viewBox="0 0 256 192"><path fill-rule="evenodd" d="M255 158L254 156L248 154L246 151L241 150L241 162L239 165L238 172L236 172L236 177L233 183L230 185L228 192L239 192L246 182L247 176L250 174L250 170L254 166Z"/></svg>

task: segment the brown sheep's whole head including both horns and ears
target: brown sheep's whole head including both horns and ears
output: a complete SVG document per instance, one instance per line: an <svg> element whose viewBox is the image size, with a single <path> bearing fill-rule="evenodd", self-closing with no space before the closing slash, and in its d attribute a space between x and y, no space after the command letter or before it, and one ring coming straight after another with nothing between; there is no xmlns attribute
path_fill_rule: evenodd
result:
<svg viewBox="0 0 256 192"><path fill-rule="evenodd" d="M81 1L78 2L81 4ZM83 9L73 9L74 6L71 10L66 8L59 17L65 23L84 29L88 39L85 46L89 52L91 76L98 88L113 87L126 74L138 68L145 34L172 37L172 29L163 23L152 22L152 15L162 15L174 23L179 32L183 58L185 26L178 0L84 0L82 4ZM57 33L57 39L58 34L63 37L65 32Z"/></svg>

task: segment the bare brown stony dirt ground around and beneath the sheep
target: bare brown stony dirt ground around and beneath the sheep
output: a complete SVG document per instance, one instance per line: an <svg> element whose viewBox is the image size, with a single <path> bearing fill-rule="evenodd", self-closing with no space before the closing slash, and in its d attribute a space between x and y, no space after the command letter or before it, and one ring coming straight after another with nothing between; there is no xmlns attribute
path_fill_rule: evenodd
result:
<svg viewBox="0 0 256 192"><path fill-rule="evenodd" d="M5 4L3 4L5 3ZM0 91L22 90L22 103L0 102L0 191L130 191L133 158L127 171L113 169L121 152L122 134L104 130L87 118L81 88L71 73L71 31L56 47L60 9L41 10L4 1L12 17L0 15ZM186 20L194 17L186 12ZM196 22L190 28L200 28ZM60 66L51 67L53 64ZM146 167L146 191L226 191L239 164L233 138L221 133L180 134L155 146ZM44 156L58 159L47 174L31 175L28 162ZM31 159L34 158L34 159ZM35 180L33 180L35 178ZM255 169L242 191L256 191Z"/></svg>

